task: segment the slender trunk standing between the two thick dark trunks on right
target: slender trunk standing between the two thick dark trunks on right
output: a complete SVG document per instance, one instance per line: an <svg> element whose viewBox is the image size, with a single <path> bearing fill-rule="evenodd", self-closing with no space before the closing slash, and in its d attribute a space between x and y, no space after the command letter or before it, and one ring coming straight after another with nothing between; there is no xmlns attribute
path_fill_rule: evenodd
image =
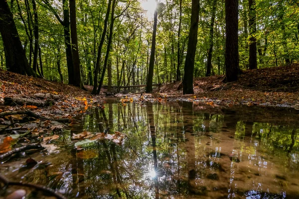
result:
<svg viewBox="0 0 299 199"><path fill-rule="evenodd" d="M212 70L213 37L214 37L214 21L215 21L215 15L216 15L216 5L217 5L217 0L214 0L213 8L212 8L211 24L210 24L210 36L209 36L210 48L208 51L206 77L211 76L211 70Z"/></svg>

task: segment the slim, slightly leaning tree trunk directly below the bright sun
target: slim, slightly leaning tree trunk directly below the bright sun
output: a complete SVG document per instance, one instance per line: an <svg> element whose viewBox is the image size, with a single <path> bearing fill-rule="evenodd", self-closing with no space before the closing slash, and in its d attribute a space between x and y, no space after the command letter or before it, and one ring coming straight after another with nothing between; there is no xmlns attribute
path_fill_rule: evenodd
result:
<svg viewBox="0 0 299 199"><path fill-rule="evenodd" d="M156 0L156 3L158 1ZM152 28L152 37L151 37L151 49L150 49L150 57L149 57L149 73L147 79L147 93L152 92L152 77L153 77L153 65L154 65L154 54L155 54L155 37L156 37L156 29L157 29L157 17L158 10L157 7L153 13L153 28Z"/></svg>

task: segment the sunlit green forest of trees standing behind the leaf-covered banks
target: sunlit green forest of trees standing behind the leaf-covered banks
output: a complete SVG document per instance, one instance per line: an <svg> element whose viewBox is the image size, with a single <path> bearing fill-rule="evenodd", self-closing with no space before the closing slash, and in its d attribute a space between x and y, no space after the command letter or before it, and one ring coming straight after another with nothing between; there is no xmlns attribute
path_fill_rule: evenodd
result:
<svg viewBox="0 0 299 199"><path fill-rule="evenodd" d="M299 59L296 0L1 0L0 9L1 68L92 94L102 85L190 88L193 77L217 74L235 81L239 69Z"/></svg>

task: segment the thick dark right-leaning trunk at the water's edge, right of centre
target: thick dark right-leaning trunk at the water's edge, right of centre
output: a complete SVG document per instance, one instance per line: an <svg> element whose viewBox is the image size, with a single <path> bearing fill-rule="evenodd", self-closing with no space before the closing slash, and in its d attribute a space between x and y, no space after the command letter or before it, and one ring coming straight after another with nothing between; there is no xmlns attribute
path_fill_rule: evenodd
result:
<svg viewBox="0 0 299 199"><path fill-rule="evenodd" d="M183 77L183 95L194 94L193 91L193 73L194 73L194 59L197 44L197 31L199 20L199 0L192 0L191 8L191 24L189 30L189 40L186 54L186 61L184 67Z"/></svg>

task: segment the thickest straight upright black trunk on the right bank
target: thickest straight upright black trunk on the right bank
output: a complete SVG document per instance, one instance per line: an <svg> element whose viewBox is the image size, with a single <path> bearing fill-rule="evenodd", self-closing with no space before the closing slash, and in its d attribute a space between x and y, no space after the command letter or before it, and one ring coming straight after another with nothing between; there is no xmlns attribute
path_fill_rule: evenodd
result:
<svg viewBox="0 0 299 199"><path fill-rule="evenodd" d="M225 0L225 80L233 82L239 77L238 0Z"/></svg>

